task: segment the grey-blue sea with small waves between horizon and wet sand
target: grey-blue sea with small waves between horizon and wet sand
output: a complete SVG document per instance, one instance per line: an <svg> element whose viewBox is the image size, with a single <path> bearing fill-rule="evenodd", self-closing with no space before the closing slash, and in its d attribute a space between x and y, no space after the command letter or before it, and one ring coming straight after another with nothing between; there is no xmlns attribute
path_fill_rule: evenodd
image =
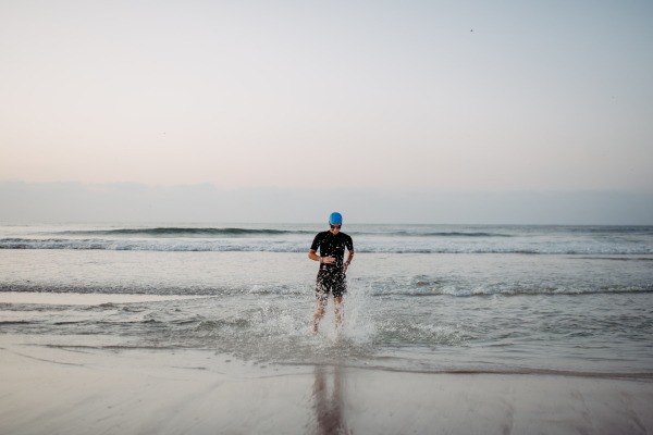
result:
<svg viewBox="0 0 653 435"><path fill-rule="evenodd" d="M345 224L345 330L310 332L316 224L0 224L0 334L257 363L653 375L652 226Z"/></svg>

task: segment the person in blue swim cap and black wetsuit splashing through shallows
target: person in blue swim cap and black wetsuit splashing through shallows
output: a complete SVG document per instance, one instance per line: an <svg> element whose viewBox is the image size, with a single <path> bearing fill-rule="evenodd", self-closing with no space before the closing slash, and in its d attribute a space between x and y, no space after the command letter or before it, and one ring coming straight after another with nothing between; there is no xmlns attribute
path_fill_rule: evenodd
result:
<svg viewBox="0 0 653 435"><path fill-rule="evenodd" d="M329 216L329 231L318 233L310 246L308 258L320 262L320 271L316 285L317 308L313 314L313 332L318 332L318 324L324 316L329 291L333 291L333 304L335 311L335 330L342 328L342 322L345 316L343 306L343 295L347 293L347 283L345 273L354 258L354 241L345 233L341 233L343 226L343 216L340 213L331 213ZM347 261L345 258L345 248L347 248ZM320 254L317 254L320 249Z"/></svg>

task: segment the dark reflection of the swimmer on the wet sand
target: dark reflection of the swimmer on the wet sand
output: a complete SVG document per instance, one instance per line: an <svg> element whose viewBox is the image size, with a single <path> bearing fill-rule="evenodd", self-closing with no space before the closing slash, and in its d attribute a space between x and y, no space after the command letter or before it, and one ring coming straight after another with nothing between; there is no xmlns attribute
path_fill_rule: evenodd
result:
<svg viewBox="0 0 653 435"><path fill-rule="evenodd" d="M328 394L325 369L316 365L316 382L313 384L313 408L316 411L316 434L347 434L343 400L342 369L333 368L333 389Z"/></svg>

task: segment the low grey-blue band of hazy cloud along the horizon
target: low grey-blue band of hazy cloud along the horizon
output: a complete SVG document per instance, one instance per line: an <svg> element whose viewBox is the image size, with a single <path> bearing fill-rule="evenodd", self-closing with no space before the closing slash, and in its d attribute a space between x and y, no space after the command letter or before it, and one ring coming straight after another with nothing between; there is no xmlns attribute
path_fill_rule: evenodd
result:
<svg viewBox="0 0 653 435"><path fill-rule="evenodd" d="M653 224L653 195L616 191L429 192L211 184L0 182L2 221Z"/></svg>

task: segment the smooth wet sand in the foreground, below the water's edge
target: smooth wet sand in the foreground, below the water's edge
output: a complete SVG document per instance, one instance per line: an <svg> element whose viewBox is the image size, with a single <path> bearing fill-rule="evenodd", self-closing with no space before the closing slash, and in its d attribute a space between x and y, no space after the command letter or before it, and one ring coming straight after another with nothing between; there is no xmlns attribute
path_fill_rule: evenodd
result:
<svg viewBox="0 0 653 435"><path fill-rule="evenodd" d="M645 434L653 382L266 365L0 338L2 434Z"/></svg>

